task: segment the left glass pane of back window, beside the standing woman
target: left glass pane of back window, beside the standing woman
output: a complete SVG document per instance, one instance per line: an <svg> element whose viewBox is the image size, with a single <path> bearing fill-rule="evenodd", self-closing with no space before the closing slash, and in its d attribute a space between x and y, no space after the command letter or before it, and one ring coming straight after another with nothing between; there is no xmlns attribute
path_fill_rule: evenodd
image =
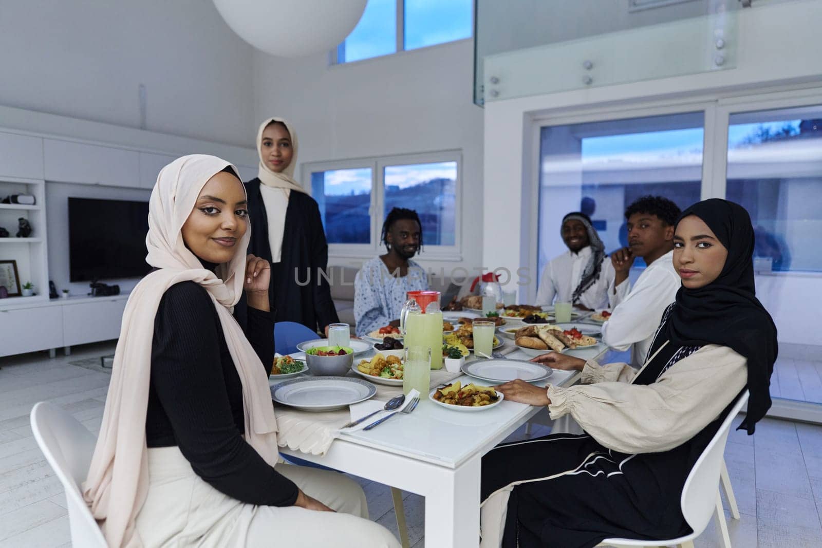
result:
<svg viewBox="0 0 822 548"><path fill-rule="evenodd" d="M372 168L312 172L328 243L371 243Z"/></svg>

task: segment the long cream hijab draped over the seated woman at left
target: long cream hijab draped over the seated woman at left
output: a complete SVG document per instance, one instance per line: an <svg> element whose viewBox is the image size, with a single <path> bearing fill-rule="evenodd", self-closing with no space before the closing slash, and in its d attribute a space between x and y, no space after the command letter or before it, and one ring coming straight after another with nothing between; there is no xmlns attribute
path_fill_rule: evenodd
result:
<svg viewBox="0 0 822 548"><path fill-rule="evenodd" d="M192 154L174 160L157 177L149 202L145 237L149 265L158 268L141 279L128 297L114 354L109 395L83 495L109 546L142 546L136 515L149 487L145 416L151 370L151 343L160 299L173 284L194 281L214 302L225 342L242 384L245 439L271 466L277 462L277 421L266 374L256 352L234 320L232 311L242 292L247 230L233 259L215 273L182 241L182 225L192 213L202 187L230 163L215 156ZM216 357L215 357L216 358ZM179 389L186 389L185 386Z"/></svg>

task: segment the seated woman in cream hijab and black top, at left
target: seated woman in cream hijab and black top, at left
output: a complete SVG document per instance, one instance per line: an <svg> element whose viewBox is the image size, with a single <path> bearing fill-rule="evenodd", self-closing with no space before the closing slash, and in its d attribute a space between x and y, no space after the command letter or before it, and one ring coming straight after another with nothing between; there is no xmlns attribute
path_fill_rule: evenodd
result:
<svg viewBox="0 0 822 548"><path fill-rule="evenodd" d="M278 463L269 265L246 256L247 215L224 160L159 173L155 269L123 313L85 500L109 546L399 546L356 482Z"/></svg>

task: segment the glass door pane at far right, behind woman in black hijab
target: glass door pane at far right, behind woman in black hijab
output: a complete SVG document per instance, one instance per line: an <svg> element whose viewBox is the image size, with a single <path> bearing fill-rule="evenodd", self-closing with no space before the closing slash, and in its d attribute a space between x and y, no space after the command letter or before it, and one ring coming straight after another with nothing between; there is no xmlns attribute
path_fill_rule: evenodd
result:
<svg viewBox="0 0 822 548"><path fill-rule="evenodd" d="M822 271L822 106L732 114L726 196L750 214L757 270Z"/></svg>

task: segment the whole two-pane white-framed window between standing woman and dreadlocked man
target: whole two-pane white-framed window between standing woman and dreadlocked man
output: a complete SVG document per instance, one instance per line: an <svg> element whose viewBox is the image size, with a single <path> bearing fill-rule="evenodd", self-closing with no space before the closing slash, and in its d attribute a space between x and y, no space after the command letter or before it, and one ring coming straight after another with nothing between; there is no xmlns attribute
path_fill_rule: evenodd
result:
<svg viewBox="0 0 822 548"><path fill-rule="evenodd" d="M417 211L423 258L459 255L459 152L307 163L305 185L320 207L331 255L371 256L395 207Z"/></svg>

